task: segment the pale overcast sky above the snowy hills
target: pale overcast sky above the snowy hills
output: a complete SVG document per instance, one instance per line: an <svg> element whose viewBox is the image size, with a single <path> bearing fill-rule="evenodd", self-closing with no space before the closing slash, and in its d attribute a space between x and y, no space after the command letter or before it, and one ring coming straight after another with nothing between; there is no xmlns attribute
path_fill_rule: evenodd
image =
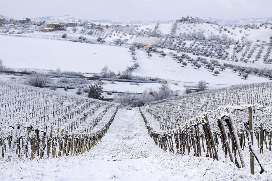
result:
<svg viewBox="0 0 272 181"><path fill-rule="evenodd" d="M272 0L11 0L0 14L15 19L71 15L88 20L171 20L182 16L222 20L271 17Z"/></svg>

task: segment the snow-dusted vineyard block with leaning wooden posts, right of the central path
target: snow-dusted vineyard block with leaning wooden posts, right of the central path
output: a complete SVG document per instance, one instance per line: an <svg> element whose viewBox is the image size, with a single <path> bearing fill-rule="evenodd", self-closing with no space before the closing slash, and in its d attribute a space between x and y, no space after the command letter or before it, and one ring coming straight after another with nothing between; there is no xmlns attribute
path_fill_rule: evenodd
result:
<svg viewBox="0 0 272 181"><path fill-rule="evenodd" d="M156 101L140 112L151 138L165 151L216 160L229 157L238 168L249 166L245 159L250 153L251 173L253 157L263 173L266 159L258 153L271 152L271 99L272 84L267 82Z"/></svg>

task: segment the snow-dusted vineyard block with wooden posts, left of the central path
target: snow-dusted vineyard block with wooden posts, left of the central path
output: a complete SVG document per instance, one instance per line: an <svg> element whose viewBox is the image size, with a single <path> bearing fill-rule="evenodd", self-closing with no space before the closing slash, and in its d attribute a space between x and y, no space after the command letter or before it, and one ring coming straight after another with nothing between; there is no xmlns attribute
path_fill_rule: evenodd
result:
<svg viewBox="0 0 272 181"><path fill-rule="evenodd" d="M107 132L119 104L0 82L1 155L11 162L82 154Z"/></svg>

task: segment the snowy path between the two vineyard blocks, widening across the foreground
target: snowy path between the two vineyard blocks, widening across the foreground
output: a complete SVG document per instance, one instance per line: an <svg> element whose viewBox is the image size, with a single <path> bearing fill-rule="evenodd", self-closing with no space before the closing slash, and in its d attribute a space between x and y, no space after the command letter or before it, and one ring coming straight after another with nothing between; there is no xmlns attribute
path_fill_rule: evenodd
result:
<svg viewBox="0 0 272 181"><path fill-rule="evenodd" d="M258 170L259 168L256 168ZM270 176L269 176L270 175ZM150 138L138 109L119 109L102 142L75 157L0 162L0 180L272 180L224 159L168 154Z"/></svg>

